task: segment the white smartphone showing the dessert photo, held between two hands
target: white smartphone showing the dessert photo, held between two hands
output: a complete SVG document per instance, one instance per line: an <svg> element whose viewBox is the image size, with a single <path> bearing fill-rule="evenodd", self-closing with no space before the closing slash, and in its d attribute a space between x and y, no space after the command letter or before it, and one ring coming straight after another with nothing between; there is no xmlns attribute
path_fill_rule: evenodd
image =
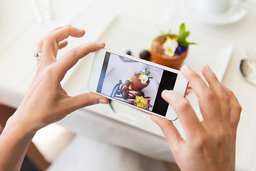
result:
<svg viewBox="0 0 256 171"><path fill-rule="evenodd" d="M95 53L88 88L144 112L176 120L176 113L161 93L175 90L184 96L187 85L180 71L102 48Z"/></svg>

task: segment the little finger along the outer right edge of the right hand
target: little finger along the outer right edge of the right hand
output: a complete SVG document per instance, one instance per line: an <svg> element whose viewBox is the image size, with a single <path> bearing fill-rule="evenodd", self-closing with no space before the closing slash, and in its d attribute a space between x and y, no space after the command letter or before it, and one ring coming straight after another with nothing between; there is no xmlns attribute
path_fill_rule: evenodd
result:
<svg viewBox="0 0 256 171"><path fill-rule="evenodd" d="M240 120L242 107L241 107L239 101L237 100L237 98L235 97L235 94L230 89L226 88L226 86L224 86L223 84L222 84L222 86L223 86L224 90L226 91L228 97L230 98L230 108L231 108L230 123L231 123L233 130L236 133L237 125Z"/></svg>

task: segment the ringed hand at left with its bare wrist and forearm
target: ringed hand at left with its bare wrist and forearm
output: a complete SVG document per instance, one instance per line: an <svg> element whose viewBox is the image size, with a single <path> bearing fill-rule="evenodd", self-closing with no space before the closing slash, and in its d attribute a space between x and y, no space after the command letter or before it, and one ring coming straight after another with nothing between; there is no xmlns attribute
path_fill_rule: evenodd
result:
<svg viewBox="0 0 256 171"><path fill-rule="evenodd" d="M0 170L20 169L26 149L40 128L79 108L108 103L107 98L94 93L69 96L61 87L60 81L80 58L105 46L104 43L87 43L72 49L57 61L57 52L67 46L66 38L69 36L80 38L84 36L84 30L72 26L59 27L39 41L37 52L42 56L38 60L34 80L0 136Z"/></svg>

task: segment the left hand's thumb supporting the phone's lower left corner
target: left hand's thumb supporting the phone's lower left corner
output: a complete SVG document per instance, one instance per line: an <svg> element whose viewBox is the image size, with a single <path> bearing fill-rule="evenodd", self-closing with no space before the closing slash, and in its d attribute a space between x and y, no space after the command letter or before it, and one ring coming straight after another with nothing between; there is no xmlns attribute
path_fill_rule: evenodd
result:
<svg viewBox="0 0 256 171"><path fill-rule="evenodd" d="M109 102L107 98L104 98L102 95L97 95L95 93L84 93L81 95L69 97L65 100L66 101L64 103L64 106L71 110L71 112L89 105L96 105L99 103L107 104Z"/></svg>

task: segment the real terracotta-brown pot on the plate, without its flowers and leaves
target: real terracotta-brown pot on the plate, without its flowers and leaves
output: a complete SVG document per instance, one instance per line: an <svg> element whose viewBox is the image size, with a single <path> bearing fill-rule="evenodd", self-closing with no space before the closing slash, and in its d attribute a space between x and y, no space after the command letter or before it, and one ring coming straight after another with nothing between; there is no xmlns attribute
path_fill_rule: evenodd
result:
<svg viewBox="0 0 256 171"><path fill-rule="evenodd" d="M152 41L151 56L154 59L154 62L179 70L184 59L187 57L187 51L189 48L187 47L187 50L180 56L174 54L174 56L169 57L164 54L164 48L162 48L164 41L163 36L158 36Z"/></svg>

